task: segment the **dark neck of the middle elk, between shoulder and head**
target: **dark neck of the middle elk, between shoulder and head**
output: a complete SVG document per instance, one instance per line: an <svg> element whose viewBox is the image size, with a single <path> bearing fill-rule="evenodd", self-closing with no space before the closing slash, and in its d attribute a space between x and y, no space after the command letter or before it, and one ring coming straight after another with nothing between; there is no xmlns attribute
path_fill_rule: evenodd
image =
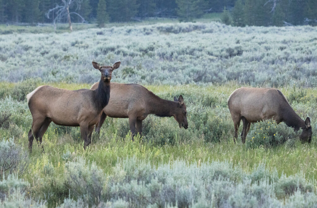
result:
<svg viewBox="0 0 317 208"><path fill-rule="evenodd" d="M174 109L177 107L178 102L164 100L152 93L150 110L151 114L155 114L159 117L171 117L173 115Z"/></svg>

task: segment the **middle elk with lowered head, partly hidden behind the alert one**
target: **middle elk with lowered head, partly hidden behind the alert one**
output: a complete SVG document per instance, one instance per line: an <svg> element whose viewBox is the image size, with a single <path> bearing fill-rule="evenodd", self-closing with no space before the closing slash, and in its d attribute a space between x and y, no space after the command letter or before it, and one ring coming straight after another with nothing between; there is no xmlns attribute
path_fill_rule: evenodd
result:
<svg viewBox="0 0 317 208"><path fill-rule="evenodd" d="M96 89L98 83L90 89ZM159 98L145 87L138 84L111 83L109 104L103 109L95 131L99 134L106 117L129 118L132 139L135 133L142 134L142 121L149 115L171 117L178 122L179 127L188 128L187 112L183 96L174 101ZM136 131L135 131L136 129Z"/></svg>

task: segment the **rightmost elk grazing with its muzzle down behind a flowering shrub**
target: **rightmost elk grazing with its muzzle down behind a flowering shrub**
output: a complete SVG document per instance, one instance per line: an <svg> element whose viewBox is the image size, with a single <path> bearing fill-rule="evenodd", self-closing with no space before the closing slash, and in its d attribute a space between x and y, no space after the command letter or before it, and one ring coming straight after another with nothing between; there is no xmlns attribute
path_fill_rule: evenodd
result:
<svg viewBox="0 0 317 208"><path fill-rule="evenodd" d="M278 89L238 88L229 96L228 107L235 127L234 143L236 143L241 120L243 122L241 139L245 143L250 123L266 119L273 119L276 123L283 121L287 126L294 128L294 131L302 129L301 140L311 142L310 118L302 120Z"/></svg>

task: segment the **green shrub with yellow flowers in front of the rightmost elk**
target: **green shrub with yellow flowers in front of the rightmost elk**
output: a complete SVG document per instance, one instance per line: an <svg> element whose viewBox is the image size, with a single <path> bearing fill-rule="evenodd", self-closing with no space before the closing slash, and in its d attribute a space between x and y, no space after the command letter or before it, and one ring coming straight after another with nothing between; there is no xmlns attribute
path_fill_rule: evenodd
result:
<svg viewBox="0 0 317 208"><path fill-rule="evenodd" d="M288 145L294 144L298 140L301 131L294 132L294 129L288 127L285 123L276 124L275 120L264 120L257 122L251 127L247 135L246 146L248 148L274 147L283 145L288 141Z"/></svg>

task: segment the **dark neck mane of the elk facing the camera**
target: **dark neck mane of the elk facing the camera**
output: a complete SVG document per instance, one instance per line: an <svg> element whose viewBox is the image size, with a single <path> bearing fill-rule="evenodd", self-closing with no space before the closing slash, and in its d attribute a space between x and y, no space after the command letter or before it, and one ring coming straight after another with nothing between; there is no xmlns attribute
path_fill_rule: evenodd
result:
<svg viewBox="0 0 317 208"><path fill-rule="evenodd" d="M106 107L110 97L110 81L100 79L98 88L94 90L94 101L100 111Z"/></svg>

